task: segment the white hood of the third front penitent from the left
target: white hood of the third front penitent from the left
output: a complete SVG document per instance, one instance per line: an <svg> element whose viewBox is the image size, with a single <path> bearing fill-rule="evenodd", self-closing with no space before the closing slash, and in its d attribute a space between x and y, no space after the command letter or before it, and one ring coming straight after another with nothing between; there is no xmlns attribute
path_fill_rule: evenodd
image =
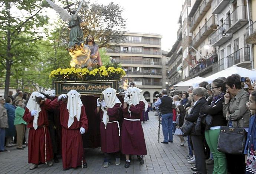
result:
<svg viewBox="0 0 256 174"><path fill-rule="evenodd" d="M106 107L112 108L116 103L120 103L121 105L121 101L116 97L116 94L115 94L116 90L114 88L106 88L104 91L102 91L102 93L104 94ZM104 112L102 121L105 124L105 128L106 128L106 125L108 124L108 121L109 121L108 112L102 106L101 106L101 110Z"/></svg>

